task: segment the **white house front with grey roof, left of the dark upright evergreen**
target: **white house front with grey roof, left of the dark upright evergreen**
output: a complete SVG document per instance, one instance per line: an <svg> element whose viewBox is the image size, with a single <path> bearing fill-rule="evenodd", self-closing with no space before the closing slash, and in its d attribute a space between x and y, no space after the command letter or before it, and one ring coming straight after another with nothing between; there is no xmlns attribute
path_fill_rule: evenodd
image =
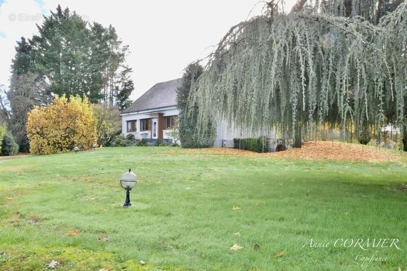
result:
<svg viewBox="0 0 407 271"><path fill-rule="evenodd" d="M122 133L135 139L167 139L178 121L176 89L181 78L155 84L122 111Z"/></svg>

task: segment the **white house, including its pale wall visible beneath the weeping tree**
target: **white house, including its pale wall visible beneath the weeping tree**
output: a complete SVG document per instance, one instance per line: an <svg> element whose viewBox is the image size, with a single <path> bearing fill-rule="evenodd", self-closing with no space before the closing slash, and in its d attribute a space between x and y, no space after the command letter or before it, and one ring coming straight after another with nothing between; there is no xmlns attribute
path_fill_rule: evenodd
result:
<svg viewBox="0 0 407 271"><path fill-rule="evenodd" d="M127 136L133 134L135 139L146 138L149 141L162 139L172 142L171 131L178 122L176 89L182 78L155 84L141 95L129 107L122 111L122 133ZM232 129L223 120L217 121L215 147L233 147L234 138L258 137L260 133L244 133ZM279 144L276 134L272 131L271 150ZM281 137L279 137L281 138Z"/></svg>

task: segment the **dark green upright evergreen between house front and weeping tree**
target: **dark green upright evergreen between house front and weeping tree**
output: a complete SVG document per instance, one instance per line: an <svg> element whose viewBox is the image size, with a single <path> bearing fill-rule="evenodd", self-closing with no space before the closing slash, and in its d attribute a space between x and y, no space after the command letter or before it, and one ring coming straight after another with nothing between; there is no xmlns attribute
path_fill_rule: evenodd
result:
<svg viewBox="0 0 407 271"><path fill-rule="evenodd" d="M177 105L179 109L179 138L184 148L211 147L214 141L214 131L209 122L204 135L196 133L198 108L188 110L188 99L191 85L202 74L203 67L198 63L188 65L182 77L181 85L176 89Z"/></svg>

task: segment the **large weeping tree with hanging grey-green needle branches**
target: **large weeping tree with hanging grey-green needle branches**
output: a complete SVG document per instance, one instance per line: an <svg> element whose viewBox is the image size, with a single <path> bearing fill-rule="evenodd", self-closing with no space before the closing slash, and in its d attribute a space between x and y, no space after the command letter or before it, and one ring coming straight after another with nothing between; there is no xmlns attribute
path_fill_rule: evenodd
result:
<svg viewBox="0 0 407 271"><path fill-rule="evenodd" d="M407 3L376 23L335 14L343 5L332 3L345 2L289 14L268 3L262 15L233 26L191 89L188 110L198 108L200 133L223 118L297 142L301 132L326 126L363 137L394 125L405 135Z"/></svg>

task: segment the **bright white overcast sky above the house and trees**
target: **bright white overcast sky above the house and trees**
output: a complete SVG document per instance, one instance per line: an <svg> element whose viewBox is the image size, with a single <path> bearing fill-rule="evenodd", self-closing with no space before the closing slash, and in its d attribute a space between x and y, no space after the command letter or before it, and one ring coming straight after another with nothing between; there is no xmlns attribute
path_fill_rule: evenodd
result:
<svg viewBox="0 0 407 271"><path fill-rule="evenodd" d="M41 14L49 15L58 4L90 22L112 24L129 45L128 65L133 68L134 92L138 98L157 82L182 76L182 70L205 48L215 45L229 28L247 18L258 0L0 0L0 84L9 85L11 59L20 37L37 33ZM295 0L286 0L286 11ZM258 4L250 16L258 15ZM28 17L31 16L31 17Z"/></svg>

